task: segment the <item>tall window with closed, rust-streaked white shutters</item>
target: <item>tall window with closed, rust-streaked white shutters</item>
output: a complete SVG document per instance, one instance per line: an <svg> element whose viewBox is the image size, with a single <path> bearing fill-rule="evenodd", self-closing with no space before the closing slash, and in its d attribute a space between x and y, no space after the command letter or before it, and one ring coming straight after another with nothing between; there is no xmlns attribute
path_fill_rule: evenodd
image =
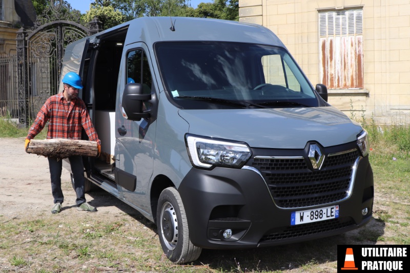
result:
<svg viewBox="0 0 410 273"><path fill-rule="evenodd" d="M327 88L363 88L363 9L319 12L320 79Z"/></svg>

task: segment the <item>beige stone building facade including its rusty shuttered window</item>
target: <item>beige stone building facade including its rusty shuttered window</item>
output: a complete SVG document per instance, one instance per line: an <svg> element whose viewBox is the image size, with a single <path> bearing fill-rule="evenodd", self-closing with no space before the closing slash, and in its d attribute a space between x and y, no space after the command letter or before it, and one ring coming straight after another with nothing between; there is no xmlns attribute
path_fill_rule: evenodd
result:
<svg viewBox="0 0 410 273"><path fill-rule="evenodd" d="M410 124L410 0L239 0L347 116Z"/></svg>

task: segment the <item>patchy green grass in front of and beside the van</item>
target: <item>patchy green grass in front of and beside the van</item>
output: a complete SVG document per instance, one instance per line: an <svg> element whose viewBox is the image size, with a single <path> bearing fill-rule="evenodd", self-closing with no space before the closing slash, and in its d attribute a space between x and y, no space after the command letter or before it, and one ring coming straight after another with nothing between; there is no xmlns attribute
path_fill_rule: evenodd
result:
<svg viewBox="0 0 410 273"><path fill-rule="evenodd" d="M163 254L152 223L100 192L125 213L80 219L70 210L58 217L10 220L0 215L0 271L336 272L338 244L410 244L410 128L362 123L370 137L374 219L354 232L278 247L204 249L198 261L174 265ZM0 118L0 137L26 135L27 129Z"/></svg>

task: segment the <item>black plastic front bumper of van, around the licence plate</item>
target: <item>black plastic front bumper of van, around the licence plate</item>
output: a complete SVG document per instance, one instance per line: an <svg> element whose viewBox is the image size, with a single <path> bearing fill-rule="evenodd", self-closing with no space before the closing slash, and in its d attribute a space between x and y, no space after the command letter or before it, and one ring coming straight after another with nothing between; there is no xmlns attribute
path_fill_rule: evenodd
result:
<svg viewBox="0 0 410 273"><path fill-rule="evenodd" d="M304 208L275 205L267 183L252 170L215 167L192 169L178 187L187 214L191 241L203 248L253 248L342 234L372 216L373 172L368 157L357 166L353 193L338 202L339 218L291 226L291 214ZM327 205L322 205L322 207ZM361 211L368 208L363 216ZM223 230L233 236L224 239Z"/></svg>

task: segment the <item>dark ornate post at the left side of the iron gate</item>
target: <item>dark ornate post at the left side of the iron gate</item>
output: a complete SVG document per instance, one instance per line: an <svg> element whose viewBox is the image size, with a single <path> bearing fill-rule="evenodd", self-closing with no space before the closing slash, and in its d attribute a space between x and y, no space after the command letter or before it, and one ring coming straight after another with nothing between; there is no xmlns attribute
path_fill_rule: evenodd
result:
<svg viewBox="0 0 410 273"><path fill-rule="evenodd" d="M29 127L29 86L27 77L27 31L20 28L17 32L17 76L18 76L18 123Z"/></svg>

